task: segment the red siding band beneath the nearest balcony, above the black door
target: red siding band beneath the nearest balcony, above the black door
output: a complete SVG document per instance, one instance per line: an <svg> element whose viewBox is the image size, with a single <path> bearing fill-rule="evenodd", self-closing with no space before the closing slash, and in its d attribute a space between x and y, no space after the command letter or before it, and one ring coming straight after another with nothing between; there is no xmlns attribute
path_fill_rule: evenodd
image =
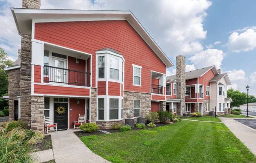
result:
<svg viewBox="0 0 256 163"><path fill-rule="evenodd" d="M90 96L90 89L35 84L34 93L59 94L59 95L70 95L70 96Z"/></svg>

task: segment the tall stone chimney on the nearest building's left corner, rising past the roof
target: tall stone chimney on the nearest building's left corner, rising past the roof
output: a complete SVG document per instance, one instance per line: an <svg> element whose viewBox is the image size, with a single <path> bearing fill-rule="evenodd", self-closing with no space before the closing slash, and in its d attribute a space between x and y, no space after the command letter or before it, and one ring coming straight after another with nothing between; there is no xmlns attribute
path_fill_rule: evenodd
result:
<svg viewBox="0 0 256 163"><path fill-rule="evenodd" d="M40 9L40 0L22 0L22 8ZM21 37L20 119L31 124L31 35ZM32 117L32 119L34 119Z"/></svg>

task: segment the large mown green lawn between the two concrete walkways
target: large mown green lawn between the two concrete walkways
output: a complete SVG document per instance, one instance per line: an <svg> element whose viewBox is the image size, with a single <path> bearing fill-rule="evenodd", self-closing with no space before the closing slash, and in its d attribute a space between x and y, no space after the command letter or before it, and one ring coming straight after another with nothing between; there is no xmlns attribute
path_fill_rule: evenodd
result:
<svg viewBox="0 0 256 163"><path fill-rule="evenodd" d="M84 144L113 163L255 163L223 123L181 121L154 129L84 136Z"/></svg>

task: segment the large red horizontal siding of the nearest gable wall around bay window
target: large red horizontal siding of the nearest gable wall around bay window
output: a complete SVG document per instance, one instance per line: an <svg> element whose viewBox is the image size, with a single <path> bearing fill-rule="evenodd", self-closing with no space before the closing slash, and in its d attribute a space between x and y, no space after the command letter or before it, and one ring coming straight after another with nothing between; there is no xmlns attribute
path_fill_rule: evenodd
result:
<svg viewBox="0 0 256 163"><path fill-rule="evenodd" d="M35 39L93 54L92 87L95 51L104 47L119 51L125 58L125 91L150 93L151 70L166 73L166 65L126 20L36 23ZM142 87L132 85L132 64L143 67Z"/></svg>

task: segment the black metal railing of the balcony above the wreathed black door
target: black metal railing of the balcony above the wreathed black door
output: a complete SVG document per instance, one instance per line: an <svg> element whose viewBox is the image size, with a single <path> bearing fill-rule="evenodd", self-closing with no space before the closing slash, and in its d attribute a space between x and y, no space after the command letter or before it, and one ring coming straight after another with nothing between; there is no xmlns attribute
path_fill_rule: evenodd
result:
<svg viewBox="0 0 256 163"><path fill-rule="evenodd" d="M44 65L44 82L90 87L90 73Z"/></svg>

